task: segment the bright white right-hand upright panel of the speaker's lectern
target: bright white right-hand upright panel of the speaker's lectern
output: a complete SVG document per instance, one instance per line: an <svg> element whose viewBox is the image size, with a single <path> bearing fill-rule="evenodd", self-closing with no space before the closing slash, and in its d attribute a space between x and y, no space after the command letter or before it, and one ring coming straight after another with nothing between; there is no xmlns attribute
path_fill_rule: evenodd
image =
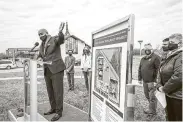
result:
<svg viewBox="0 0 183 122"><path fill-rule="evenodd" d="M30 121L37 121L37 61L30 60Z"/></svg>

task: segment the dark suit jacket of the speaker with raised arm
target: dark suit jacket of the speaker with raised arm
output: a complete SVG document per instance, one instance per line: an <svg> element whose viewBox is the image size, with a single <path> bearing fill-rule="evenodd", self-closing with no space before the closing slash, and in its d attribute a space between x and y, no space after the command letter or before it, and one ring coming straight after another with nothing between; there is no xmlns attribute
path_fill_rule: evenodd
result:
<svg viewBox="0 0 183 122"><path fill-rule="evenodd" d="M58 36L51 37L48 35L46 44L42 42L40 45L39 57L41 57L44 62L52 62L51 65L44 64L44 69L48 67L53 74L63 71L66 68L60 50L60 45L63 43L64 35L62 32L59 32Z"/></svg>

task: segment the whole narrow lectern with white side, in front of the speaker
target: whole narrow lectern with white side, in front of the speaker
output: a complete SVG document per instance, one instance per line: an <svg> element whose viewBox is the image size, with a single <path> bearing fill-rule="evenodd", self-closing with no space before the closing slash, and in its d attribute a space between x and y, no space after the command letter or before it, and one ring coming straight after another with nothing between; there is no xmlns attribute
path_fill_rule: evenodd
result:
<svg viewBox="0 0 183 122"><path fill-rule="evenodd" d="M24 61L24 121L37 121L37 61Z"/></svg>

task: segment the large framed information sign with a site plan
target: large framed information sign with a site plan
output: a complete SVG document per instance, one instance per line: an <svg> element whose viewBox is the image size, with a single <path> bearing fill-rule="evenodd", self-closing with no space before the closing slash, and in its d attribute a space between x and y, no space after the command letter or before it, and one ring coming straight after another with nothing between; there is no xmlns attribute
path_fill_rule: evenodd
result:
<svg viewBox="0 0 183 122"><path fill-rule="evenodd" d="M134 16L92 33L90 118L124 121L126 84L131 82Z"/></svg>

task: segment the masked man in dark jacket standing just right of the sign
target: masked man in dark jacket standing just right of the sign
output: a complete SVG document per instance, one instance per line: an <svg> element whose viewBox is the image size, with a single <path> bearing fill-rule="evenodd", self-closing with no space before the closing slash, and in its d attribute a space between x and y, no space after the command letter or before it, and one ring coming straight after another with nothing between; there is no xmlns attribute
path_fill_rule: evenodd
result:
<svg viewBox="0 0 183 122"><path fill-rule="evenodd" d="M138 80L143 80L144 94L149 102L149 109L144 109L147 114L147 120L154 120L156 117L157 100L154 95L156 90L154 83L156 82L157 73L160 65L160 57L153 52L150 43L144 45L145 56L141 59Z"/></svg>

